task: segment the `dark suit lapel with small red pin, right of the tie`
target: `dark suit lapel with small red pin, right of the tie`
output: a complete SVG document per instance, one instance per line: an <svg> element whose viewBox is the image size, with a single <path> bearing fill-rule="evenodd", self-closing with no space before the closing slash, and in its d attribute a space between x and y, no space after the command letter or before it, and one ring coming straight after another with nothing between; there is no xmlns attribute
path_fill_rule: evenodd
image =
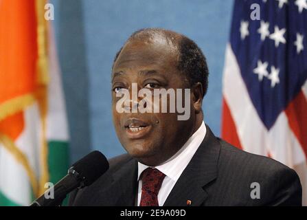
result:
<svg viewBox="0 0 307 220"><path fill-rule="evenodd" d="M207 132L201 146L179 177L163 206L201 206L207 198L205 186L216 179L220 143L206 126Z"/></svg>

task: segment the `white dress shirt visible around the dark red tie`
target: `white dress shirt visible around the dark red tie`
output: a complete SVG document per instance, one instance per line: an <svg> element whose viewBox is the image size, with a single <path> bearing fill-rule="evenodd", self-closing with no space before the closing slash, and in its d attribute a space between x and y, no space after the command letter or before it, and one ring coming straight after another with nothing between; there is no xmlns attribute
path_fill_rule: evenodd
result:
<svg viewBox="0 0 307 220"><path fill-rule="evenodd" d="M189 140L187 140L187 142L185 142L183 147L175 155L170 157L170 159L168 159L163 164L152 167L152 168L157 168L166 175L166 177L163 179L158 194L159 206L163 206L164 202L168 198L168 195L170 195L172 188L179 179L181 173L187 167L187 164L190 163L194 153L198 149L198 146L200 146L201 142L203 142L205 134L206 134L206 126L205 122L202 122L201 126L197 129L197 131L189 138ZM141 173L148 167L151 166L146 166L145 164L141 164L140 162L138 162L137 178L139 180L139 189L137 192L137 206L139 206L139 203L141 201L142 182L139 177Z"/></svg>

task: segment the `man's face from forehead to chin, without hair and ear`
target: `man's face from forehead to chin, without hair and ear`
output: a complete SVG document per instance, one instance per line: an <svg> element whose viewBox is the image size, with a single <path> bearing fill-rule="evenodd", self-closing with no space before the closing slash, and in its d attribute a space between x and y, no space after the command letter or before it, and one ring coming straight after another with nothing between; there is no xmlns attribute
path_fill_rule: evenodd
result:
<svg viewBox="0 0 307 220"><path fill-rule="evenodd" d="M177 153L192 135L192 103L188 120L178 120L177 113L119 113L116 92L125 89L131 94L132 83L137 83L138 90L190 88L177 69L177 50L161 43L128 43L113 67L112 111L117 136L132 157L157 166Z"/></svg>

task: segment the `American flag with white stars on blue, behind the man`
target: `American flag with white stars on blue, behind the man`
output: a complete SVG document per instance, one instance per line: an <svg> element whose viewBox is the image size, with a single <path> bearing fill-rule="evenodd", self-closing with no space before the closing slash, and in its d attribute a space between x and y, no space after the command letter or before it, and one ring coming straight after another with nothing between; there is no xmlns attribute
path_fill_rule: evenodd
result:
<svg viewBox="0 0 307 220"><path fill-rule="evenodd" d="M233 13L222 137L294 168L307 206L307 0L237 0Z"/></svg>

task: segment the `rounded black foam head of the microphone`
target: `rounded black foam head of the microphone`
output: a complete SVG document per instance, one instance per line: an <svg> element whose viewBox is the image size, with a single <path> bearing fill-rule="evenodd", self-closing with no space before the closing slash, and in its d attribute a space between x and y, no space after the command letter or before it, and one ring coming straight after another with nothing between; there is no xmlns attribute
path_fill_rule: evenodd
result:
<svg viewBox="0 0 307 220"><path fill-rule="evenodd" d="M109 162L100 151L92 151L74 163L70 169L79 173L84 186L89 186L109 169Z"/></svg>

